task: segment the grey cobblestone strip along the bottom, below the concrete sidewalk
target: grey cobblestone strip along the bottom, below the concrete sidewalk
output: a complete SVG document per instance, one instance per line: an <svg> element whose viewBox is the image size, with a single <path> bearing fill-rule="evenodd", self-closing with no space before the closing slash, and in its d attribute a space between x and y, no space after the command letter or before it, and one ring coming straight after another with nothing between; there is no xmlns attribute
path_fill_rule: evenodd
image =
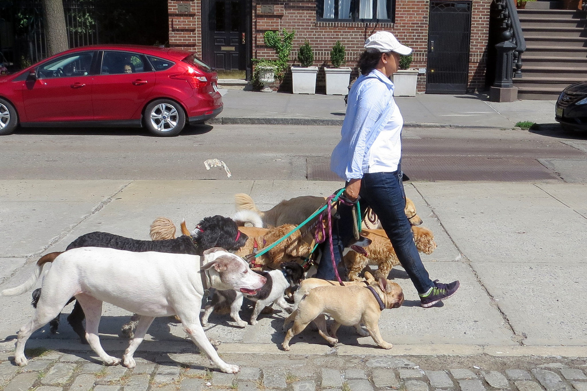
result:
<svg viewBox="0 0 587 391"><path fill-rule="evenodd" d="M127 369L103 366L88 352L26 353L35 358L21 368L0 352L0 390L587 391L585 359L560 357L222 354L241 365L228 375L198 354L139 352L136 368Z"/></svg>

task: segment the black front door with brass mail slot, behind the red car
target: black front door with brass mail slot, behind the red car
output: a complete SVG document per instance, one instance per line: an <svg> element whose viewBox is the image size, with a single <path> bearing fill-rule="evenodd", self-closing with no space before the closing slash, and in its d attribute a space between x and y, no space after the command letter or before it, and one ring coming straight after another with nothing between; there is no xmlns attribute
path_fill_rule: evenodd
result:
<svg viewBox="0 0 587 391"><path fill-rule="evenodd" d="M245 0L204 0L204 61L215 69L246 67L247 4Z"/></svg>

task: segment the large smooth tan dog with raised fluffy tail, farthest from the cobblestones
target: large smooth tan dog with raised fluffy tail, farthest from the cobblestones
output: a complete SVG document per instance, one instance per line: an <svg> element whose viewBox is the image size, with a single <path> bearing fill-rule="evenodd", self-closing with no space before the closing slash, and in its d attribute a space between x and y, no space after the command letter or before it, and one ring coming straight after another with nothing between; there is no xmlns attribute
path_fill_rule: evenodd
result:
<svg viewBox="0 0 587 391"><path fill-rule="evenodd" d="M262 218L263 225L269 228L283 224L301 224L303 220L307 219L317 209L325 205L326 198L317 196L299 196L288 200L282 200L273 208L265 211L259 210L251 196L245 193L235 194L234 202L237 211L253 210L254 212L257 212ZM416 206L414 206L414 203L411 201L411 199L406 198L406 208L404 210L411 225L415 226L422 223L422 219L420 219L420 216L417 215ZM332 213L334 214L334 212L335 211L333 209ZM365 217L367 216L369 216L369 214L366 214ZM363 224L366 225L366 227L370 226L380 228L379 219L377 219L375 213L372 213L370 216L372 216L370 218L372 222L367 219L363 219Z"/></svg>

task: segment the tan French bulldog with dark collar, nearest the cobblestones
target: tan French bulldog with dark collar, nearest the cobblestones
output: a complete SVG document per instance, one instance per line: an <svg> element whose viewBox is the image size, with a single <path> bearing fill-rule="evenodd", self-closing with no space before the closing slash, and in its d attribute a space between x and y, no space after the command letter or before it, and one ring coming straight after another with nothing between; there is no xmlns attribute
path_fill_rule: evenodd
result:
<svg viewBox="0 0 587 391"><path fill-rule="evenodd" d="M381 278L379 283L374 282L369 286L374 292L360 285L344 287L329 285L313 288L302 298L298 308L285 319L284 329L291 322L294 322L294 325L286 333L281 345L284 351L289 351L289 341L312 321L318 326L319 334L330 345L338 342L336 331L341 325L357 328L358 325L364 324L377 345L383 349L393 348L393 345L384 341L381 336L379 318L383 308L398 308L403 304L402 288L384 278ZM379 297L381 305L373 293ZM330 327L330 334L326 329L325 314L335 320Z"/></svg>

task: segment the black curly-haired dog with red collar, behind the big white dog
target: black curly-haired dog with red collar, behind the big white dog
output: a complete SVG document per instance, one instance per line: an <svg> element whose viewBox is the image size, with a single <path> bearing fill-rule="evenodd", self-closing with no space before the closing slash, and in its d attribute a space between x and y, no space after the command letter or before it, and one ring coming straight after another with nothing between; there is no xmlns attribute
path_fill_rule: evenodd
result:
<svg viewBox="0 0 587 391"><path fill-rule="evenodd" d="M129 237L119 236L106 232L91 232L78 237L69 244L67 250L77 249L77 247L110 247L117 250L128 251L158 251L160 253L174 254L193 254L203 255L205 250L212 247L222 247L228 251L237 251L247 243L247 235L239 232L237 223L229 217L220 215L205 217L196 226L197 233L192 236L183 235L177 239L168 240L139 240L130 239ZM32 293L33 307L36 308L37 302L41 297L41 288L37 288ZM75 297L69 301L72 302ZM82 344L87 344L86 329L82 321L86 318L82 306L76 301L72 313L68 316L68 323L73 331L79 335ZM49 329L52 333L57 332L59 328L59 315L49 322Z"/></svg>

